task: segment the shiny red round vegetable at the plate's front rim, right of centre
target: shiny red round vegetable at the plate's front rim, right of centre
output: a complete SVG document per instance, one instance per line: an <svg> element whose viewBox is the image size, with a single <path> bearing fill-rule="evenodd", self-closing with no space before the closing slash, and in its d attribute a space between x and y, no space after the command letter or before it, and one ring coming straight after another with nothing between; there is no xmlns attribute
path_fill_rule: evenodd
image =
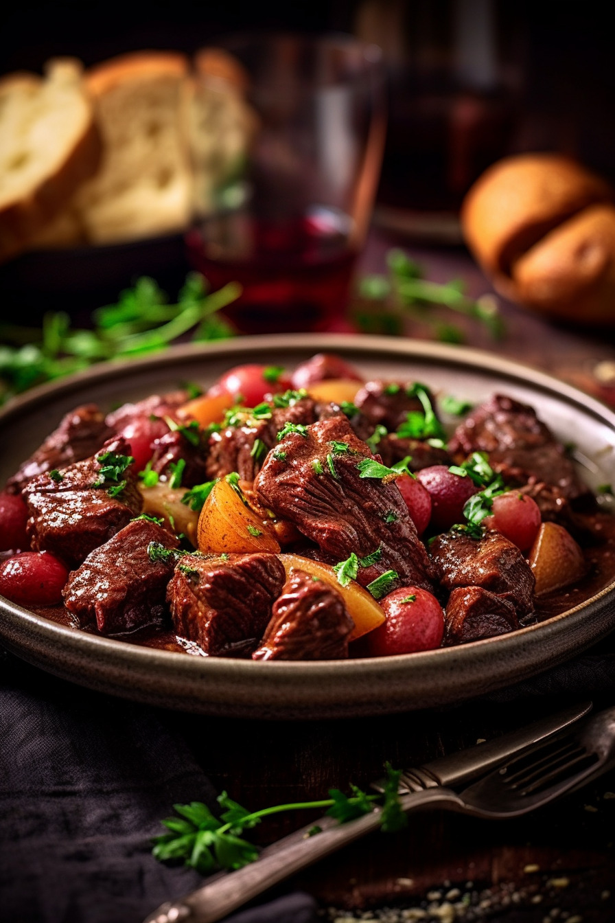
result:
<svg viewBox="0 0 615 923"><path fill-rule="evenodd" d="M416 586L405 586L385 596L381 605L386 621L366 635L373 657L432 651L440 647L444 612L432 593Z"/></svg>

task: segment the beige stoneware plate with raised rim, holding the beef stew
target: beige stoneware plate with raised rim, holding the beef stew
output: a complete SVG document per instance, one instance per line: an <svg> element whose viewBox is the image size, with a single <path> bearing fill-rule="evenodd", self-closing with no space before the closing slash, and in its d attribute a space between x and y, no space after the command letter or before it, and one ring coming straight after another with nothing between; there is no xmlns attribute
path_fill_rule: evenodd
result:
<svg viewBox="0 0 615 923"><path fill-rule="evenodd" d="M246 362L294 366L327 350L368 378L419 380L472 402L496 390L531 403L562 441L583 452L590 485L615 483L615 414L582 392L500 356L384 337L312 334L177 347L101 366L45 386L0 414L0 483L77 404L117 402L208 385ZM583 605L486 641L395 657L254 663L158 651L65 628L0 597L0 640L31 664L92 689L184 711L254 718L323 718L402 712L473 698L561 664L615 628L615 575Z"/></svg>

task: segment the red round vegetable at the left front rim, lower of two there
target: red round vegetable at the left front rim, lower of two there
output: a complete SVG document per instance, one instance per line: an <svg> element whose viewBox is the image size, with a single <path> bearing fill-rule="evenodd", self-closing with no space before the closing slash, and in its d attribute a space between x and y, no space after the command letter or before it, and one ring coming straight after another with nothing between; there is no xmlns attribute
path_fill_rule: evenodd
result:
<svg viewBox="0 0 615 923"><path fill-rule="evenodd" d="M68 569L48 551L26 551L0 566L0 593L18 605L62 602Z"/></svg>

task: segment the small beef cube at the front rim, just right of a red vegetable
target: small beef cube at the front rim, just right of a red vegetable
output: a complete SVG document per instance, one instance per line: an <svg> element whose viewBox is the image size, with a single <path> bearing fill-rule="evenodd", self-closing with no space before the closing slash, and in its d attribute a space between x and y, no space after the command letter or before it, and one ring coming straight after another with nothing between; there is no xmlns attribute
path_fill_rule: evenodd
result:
<svg viewBox="0 0 615 923"><path fill-rule="evenodd" d="M481 586L454 590L444 610L444 645L480 641L518 628L514 605Z"/></svg>

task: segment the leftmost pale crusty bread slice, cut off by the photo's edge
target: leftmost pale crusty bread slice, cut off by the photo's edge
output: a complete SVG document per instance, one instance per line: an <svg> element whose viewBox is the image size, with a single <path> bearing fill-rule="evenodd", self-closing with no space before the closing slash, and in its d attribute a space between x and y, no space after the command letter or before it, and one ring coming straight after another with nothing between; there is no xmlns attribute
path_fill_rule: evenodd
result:
<svg viewBox="0 0 615 923"><path fill-rule="evenodd" d="M0 259L30 245L100 157L77 61L50 61L44 78L16 73L0 80Z"/></svg>

